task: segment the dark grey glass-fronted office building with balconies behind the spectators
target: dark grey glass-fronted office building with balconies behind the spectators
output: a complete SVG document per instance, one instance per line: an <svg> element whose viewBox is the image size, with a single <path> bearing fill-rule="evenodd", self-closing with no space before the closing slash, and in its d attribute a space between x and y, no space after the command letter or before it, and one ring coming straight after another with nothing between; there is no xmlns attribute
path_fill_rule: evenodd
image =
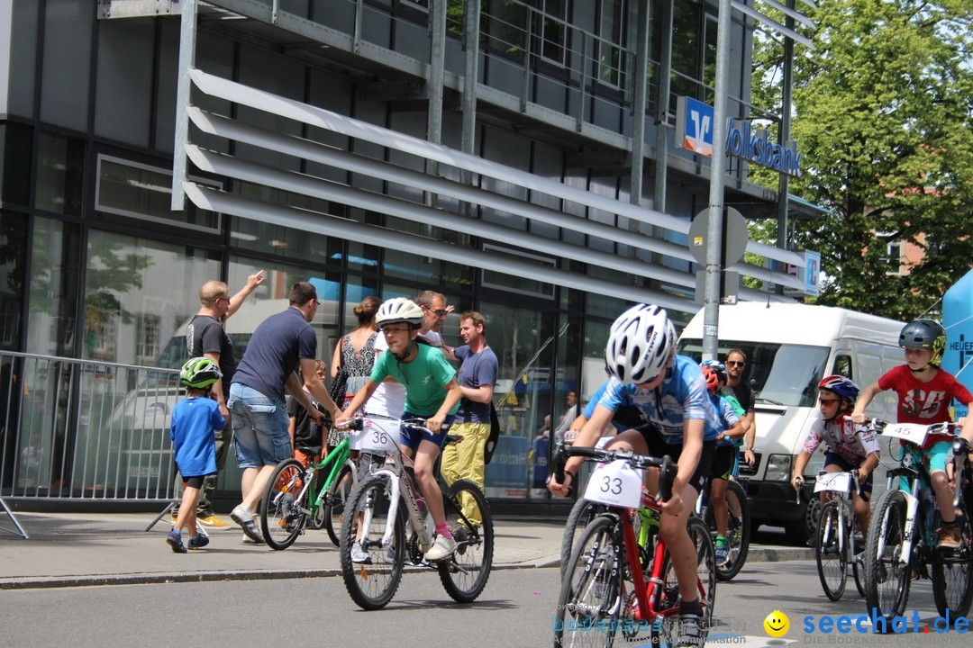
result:
<svg viewBox="0 0 973 648"><path fill-rule="evenodd" d="M431 166L380 140L194 89L193 104L207 114L519 205L459 200L193 126L200 149L325 188L297 191L189 165L195 187L263 205L267 218L194 200L170 210L176 122L186 110L177 105L181 4L0 0L0 348L178 366L202 283L219 278L235 291L263 268L267 282L229 326L237 354L304 280L327 303L314 324L330 363L362 297L439 290L457 313L485 314L500 360L494 403L505 440L487 469L488 495L498 506L551 506L549 443L538 430L547 416L558 426L567 392L585 402L598 387L614 317L633 301L664 303L679 322L698 310L699 266L676 253L686 249L684 228L626 210L688 222L707 204L708 161L675 148L671 125L676 97L713 101L715 2L483 0L476 21L474 0L200 3L194 55L206 75L593 196L567 199L503 174ZM471 25L478 38L466 38ZM734 13L729 93L738 117L751 110L753 29ZM465 82L468 70L477 83ZM433 102L441 117L430 115ZM775 214L775 193L750 184L745 165L731 164L727 187L726 202L744 216ZM398 207L369 209L339 188ZM432 216L407 218L410 209ZM284 211L328 222L331 233L270 218ZM609 230L621 235L598 233ZM427 254L416 248L423 240ZM443 332L460 343L454 315ZM234 469L221 487L228 498L237 491Z"/></svg>

